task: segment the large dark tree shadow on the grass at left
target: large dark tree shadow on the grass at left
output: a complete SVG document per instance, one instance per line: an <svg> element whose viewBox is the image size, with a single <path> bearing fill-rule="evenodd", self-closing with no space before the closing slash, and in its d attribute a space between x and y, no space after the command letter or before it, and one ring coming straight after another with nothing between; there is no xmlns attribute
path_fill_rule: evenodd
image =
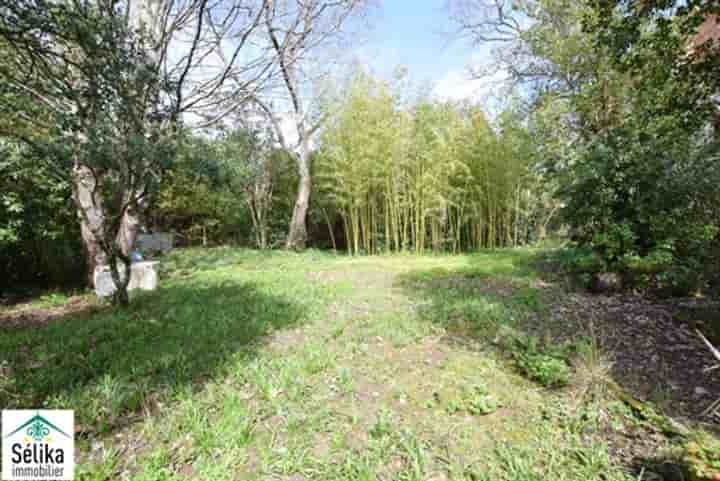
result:
<svg viewBox="0 0 720 481"><path fill-rule="evenodd" d="M304 308L252 282L192 279L137 296L127 309L0 335L0 406L74 409L87 431L112 429L156 401L253 357Z"/></svg>

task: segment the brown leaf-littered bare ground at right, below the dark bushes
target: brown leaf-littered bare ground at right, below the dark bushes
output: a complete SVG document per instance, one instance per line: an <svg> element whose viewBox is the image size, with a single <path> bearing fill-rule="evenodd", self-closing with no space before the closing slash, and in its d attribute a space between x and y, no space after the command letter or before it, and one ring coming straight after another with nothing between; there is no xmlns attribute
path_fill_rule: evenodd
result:
<svg viewBox="0 0 720 481"><path fill-rule="evenodd" d="M671 417L720 430L720 417L705 412L720 397L720 369L709 371L718 361L695 326L678 320L688 306L712 305L712 301L582 292L551 297L548 305L556 340L595 336L612 363L613 378L635 397L654 403ZM543 319L538 317L538 322ZM555 329L560 326L564 329Z"/></svg>

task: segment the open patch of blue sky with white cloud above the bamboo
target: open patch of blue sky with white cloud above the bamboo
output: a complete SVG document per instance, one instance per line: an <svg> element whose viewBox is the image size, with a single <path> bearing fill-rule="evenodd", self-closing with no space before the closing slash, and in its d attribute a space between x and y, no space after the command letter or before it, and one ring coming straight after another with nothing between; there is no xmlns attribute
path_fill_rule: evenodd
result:
<svg viewBox="0 0 720 481"><path fill-rule="evenodd" d="M489 62L490 48L473 47L458 39L445 3L384 0L355 55L379 77L390 78L402 65L414 84L432 84L433 95L439 99L482 102L495 90L498 79L472 80L467 66Z"/></svg>

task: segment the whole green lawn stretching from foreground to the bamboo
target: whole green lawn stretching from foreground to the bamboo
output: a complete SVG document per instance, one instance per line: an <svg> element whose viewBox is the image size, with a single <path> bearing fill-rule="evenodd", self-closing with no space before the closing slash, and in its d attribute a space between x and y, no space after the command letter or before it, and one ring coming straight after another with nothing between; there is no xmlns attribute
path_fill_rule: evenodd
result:
<svg viewBox="0 0 720 481"><path fill-rule="evenodd" d="M175 251L128 309L5 330L0 406L74 409L83 480L639 479L675 441L538 258Z"/></svg>

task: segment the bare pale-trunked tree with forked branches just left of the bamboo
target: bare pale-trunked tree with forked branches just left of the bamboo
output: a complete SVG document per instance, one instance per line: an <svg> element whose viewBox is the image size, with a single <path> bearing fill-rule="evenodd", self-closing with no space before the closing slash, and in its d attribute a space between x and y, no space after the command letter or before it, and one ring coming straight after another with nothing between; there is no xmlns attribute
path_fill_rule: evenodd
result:
<svg viewBox="0 0 720 481"><path fill-rule="evenodd" d="M299 181L293 216L285 243L288 249L303 249L307 242L307 213L312 193L312 137L321 128L324 117L312 119L303 93L312 79L307 64L322 48L341 38L349 21L364 11L365 0L267 0L263 26L277 56L280 82L292 112L297 140L290 145L276 115L267 103L257 100L273 120L278 140L295 156Z"/></svg>

